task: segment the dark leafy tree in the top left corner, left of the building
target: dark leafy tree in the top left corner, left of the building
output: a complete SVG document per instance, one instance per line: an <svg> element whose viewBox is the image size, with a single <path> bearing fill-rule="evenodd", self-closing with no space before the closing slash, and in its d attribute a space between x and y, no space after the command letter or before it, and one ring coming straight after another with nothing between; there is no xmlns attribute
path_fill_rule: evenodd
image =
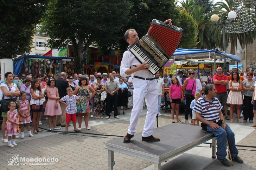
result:
<svg viewBox="0 0 256 170"><path fill-rule="evenodd" d="M9 0L0 6L0 57L30 52L34 28L48 0Z"/></svg>

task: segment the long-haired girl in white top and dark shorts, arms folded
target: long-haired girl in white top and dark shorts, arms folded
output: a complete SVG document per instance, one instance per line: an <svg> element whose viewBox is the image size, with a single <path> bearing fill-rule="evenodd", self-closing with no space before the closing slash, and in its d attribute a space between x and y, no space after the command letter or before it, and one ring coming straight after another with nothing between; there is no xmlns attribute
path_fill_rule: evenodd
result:
<svg viewBox="0 0 256 170"><path fill-rule="evenodd" d="M33 133L37 134L38 132L43 132L38 129L38 125L39 125L40 115L43 112L43 100L41 100L41 99L44 98L44 94L41 90L41 86L39 84L38 79L34 79L32 81L30 93L31 93L31 100L30 100L31 112L33 115L32 123L33 123L33 127L34 127Z"/></svg>

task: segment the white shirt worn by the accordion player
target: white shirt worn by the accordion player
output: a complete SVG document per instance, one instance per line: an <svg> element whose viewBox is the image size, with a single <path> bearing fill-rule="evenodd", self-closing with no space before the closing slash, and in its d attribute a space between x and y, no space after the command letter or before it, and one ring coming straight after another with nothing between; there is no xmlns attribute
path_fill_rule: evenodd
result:
<svg viewBox="0 0 256 170"><path fill-rule="evenodd" d="M121 61L121 67L120 67L120 75L123 77L127 77L125 72L128 70L130 67L134 68L135 66L139 66L141 63L135 58L135 56L130 52L130 50L127 50L126 52L123 53L123 59ZM154 77L153 74L151 74L148 70L139 70L135 73L132 74L133 76L139 76L139 77Z"/></svg>

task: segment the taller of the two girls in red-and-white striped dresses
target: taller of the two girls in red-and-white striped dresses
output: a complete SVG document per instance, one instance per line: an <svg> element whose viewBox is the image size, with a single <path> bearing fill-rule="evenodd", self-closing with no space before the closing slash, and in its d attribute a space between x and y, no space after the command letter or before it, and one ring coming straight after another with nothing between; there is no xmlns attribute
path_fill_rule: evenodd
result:
<svg viewBox="0 0 256 170"><path fill-rule="evenodd" d="M27 94L25 91L21 91L20 92L20 100L18 102L18 112L20 114L21 117L21 121L20 123L20 128L21 128L21 139L24 138L24 124L26 124L27 127L27 131L28 131L28 135L30 137L34 137L31 134L31 130L30 130L30 124L31 121L31 117L30 117L30 104L29 102L26 100Z"/></svg>

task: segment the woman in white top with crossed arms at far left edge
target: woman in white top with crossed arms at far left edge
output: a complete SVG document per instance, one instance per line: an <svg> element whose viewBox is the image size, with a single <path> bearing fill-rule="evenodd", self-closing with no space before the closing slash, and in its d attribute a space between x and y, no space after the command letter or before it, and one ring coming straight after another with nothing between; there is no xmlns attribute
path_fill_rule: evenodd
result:
<svg viewBox="0 0 256 170"><path fill-rule="evenodd" d="M13 81L12 72L5 73L5 79L6 79L6 82L1 83L1 90L3 92L3 99L2 99L2 103L1 103L3 122L2 122L1 129L2 129L2 134L3 134L2 142L8 143L8 140L5 136L5 125L6 125L6 121L7 121L7 111L9 110L8 103L11 100L16 102L16 100L17 100L16 96L20 95L20 91L19 91L18 87L16 86L16 84L12 83L12 81ZM4 104L4 103L7 103L7 104ZM17 138L17 136L16 136L16 138Z"/></svg>

